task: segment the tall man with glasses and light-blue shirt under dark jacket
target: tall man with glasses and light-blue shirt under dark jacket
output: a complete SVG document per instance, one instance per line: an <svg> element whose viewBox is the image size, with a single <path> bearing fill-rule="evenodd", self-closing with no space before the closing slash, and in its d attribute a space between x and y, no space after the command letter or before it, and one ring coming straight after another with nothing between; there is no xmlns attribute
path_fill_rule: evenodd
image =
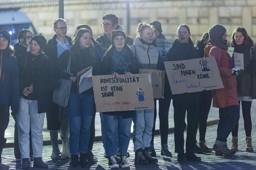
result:
<svg viewBox="0 0 256 170"><path fill-rule="evenodd" d="M72 45L72 39L67 36L68 26L64 19L54 20L54 37L47 42L44 53L47 54L57 65L58 57ZM57 67L57 66L56 66ZM51 111L47 113L47 129L50 130L52 143L52 159L66 159L70 157L69 150L69 116L67 107L61 107L52 102ZM58 130L63 144L62 153L58 146Z"/></svg>

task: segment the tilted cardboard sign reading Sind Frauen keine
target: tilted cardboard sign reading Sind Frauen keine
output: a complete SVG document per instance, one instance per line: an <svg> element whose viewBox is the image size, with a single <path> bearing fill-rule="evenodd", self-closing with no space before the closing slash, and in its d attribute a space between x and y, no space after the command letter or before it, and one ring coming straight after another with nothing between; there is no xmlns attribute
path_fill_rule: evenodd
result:
<svg viewBox="0 0 256 170"><path fill-rule="evenodd" d="M172 94L224 88L214 57L164 62Z"/></svg>

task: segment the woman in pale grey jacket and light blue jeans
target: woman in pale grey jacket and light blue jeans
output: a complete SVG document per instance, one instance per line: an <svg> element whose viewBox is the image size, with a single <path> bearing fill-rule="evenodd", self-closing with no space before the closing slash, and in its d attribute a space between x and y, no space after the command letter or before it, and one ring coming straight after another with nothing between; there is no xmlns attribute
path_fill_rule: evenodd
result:
<svg viewBox="0 0 256 170"><path fill-rule="evenodd" d="M140 23L137 34L138 37L135 39L134 45L131 45L131 50L136 56L139 68L157 69L160 54L157 48L152 45L154 40L153 29L145 23ZM136 111L133 122L135 164L157 163L158 160L150 155L154 109Z"/></svg>

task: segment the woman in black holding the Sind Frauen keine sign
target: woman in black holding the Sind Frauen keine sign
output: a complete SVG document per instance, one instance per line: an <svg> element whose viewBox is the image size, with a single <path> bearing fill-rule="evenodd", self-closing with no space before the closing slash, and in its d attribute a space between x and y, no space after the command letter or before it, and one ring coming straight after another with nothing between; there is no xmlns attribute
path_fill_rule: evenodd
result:
<svg viewBox="0 0 256 170"><path fill-rule="evenodd" d="M177 28L178 38L167 52L167 61L180 61L199 58L198 50L190 38L190 30L186 25ZM174 108L174 140L177 160L201 161L195 156L196 133L199 123L199 92L172 95ZM187 111L186 153L184 154L184 130L186 128L185 115Z"/></svg>

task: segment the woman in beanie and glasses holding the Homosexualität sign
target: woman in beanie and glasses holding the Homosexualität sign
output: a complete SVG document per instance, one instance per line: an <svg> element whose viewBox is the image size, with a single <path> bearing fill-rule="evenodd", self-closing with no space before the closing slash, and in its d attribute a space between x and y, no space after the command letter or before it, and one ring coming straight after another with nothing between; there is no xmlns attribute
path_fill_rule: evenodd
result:
<svg viewBox="0 0 256 170"><path fill-rule="evenodd" d="M127 45L126 35L121 30L111 31L111 46L102 58L99 66L102 75L112 74L115 77L132 77L138 73L136 59ZM129 168L127 150L131 135L131 121L135 111L102 112L105 129L105 151L108 155L109 168ZM119 144L116 144L118 142ZM119 146L120 161L115 155Z"/></svg>

